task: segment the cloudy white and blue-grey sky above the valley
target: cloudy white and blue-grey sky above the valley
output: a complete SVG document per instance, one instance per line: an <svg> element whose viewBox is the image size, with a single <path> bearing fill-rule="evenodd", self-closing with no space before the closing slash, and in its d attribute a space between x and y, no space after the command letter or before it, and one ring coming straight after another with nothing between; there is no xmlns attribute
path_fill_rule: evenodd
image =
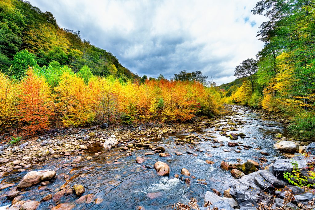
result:
<svg viewBox="0 0 315 210"><path fill-rule="evenodd" d="M266 19L250 13L255 0L30 2L140 76L201 70L218 84L231 82L234 67L263 47L256 33Z"/></svg>

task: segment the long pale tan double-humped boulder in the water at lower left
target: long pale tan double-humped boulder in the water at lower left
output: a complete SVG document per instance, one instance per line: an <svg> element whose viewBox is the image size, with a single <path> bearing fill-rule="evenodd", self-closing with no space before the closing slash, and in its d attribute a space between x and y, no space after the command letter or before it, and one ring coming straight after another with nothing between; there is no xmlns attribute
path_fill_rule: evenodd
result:
<svg viewBox="0 0 315 210"><path fill-rule="evenodd" d="M55 171L46 172L30 171L23 177L23 179L20 181L17 187L18 188L30 187L34 184L40 183L41 181L54 179L55 176L56 176Z"/></svg>

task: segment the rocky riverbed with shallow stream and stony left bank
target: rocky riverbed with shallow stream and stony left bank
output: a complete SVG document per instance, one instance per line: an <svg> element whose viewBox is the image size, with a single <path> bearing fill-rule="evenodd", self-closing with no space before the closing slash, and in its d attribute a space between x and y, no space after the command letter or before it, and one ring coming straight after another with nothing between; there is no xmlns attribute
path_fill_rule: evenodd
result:
<svg viewBox="0 0 315 210"><path fill-rule="evenodd" d="M193 197L201 207L205 195L228 196L229 188L234 200L239 180L266 179L255 171L285 158L273 145L278 137L289 138L288 122L242 106L226 108L226 116L191 124L53 129L37 139L2 145L1 206L172 209ZM236 201L232 207L249 207Z"/></svg>

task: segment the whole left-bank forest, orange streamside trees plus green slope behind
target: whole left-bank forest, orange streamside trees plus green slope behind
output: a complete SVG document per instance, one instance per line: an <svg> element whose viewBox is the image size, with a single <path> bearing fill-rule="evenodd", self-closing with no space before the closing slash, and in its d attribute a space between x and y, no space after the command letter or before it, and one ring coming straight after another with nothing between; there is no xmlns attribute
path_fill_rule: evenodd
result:
<svg viewBox="0 0 315 210"><path fill-rule="evenodd" d="M0 128L190 121L214 116L221 96L201 71L167 80L133 74L115 56L62 29L49 12L1 1Z"/></svg>

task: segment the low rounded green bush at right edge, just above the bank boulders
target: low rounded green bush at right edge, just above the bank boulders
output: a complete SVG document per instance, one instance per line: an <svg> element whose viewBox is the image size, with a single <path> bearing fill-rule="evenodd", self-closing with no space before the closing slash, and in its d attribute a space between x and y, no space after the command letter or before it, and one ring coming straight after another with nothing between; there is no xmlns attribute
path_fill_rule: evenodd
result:
<svg viewBox="0 0 315 210"><path fill-rule="evenodd" d="M305 112L297 115L289 125L288 130L296 137L313 137L315 133L315 114L313 112Z"/></svg>

